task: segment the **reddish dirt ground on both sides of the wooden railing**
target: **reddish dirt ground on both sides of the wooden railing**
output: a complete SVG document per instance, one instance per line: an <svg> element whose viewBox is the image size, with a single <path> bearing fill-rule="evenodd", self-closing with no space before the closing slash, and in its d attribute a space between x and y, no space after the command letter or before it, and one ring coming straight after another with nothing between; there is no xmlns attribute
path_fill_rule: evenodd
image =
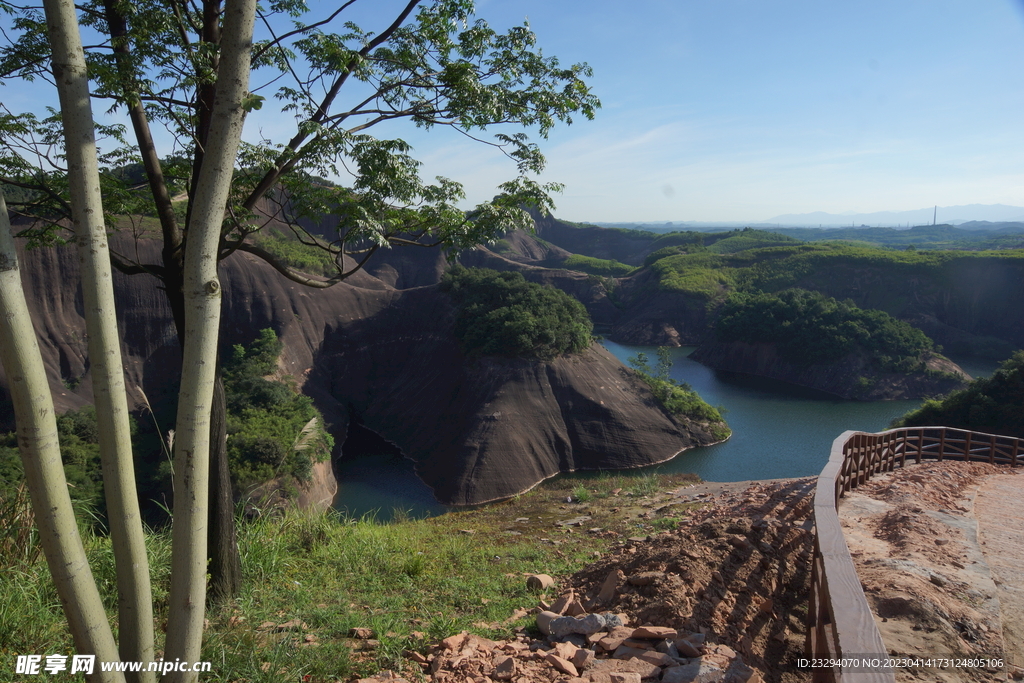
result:
<svg viewBox="0 0 1024 683"><path fill-rule="evenodd" d="M896 671L897 681L1024 679L1024 670L1014 666L1024 649L1016 642L1016 634L1024 633L1024 610L1013 602L1024 599L1024 590L1016 585L1024 571L1014 554L1020 549L1007 551L1009 559L990 569L988 557L994 557L994 550L986 553L984 546L1006 551L1002 517L989 511L1017 513L1006 505L1005 487L986 487L985 482L1005 484L1008 476L1024 483L1024 474L1017 479L986 464L914 465L879 475L843 499L847 543L888 653L1001 657L1008 665L908 667ZM584 611L620 613L631 627L702 634L709 656L724 647L746 667L741 677L727 674L725 681L810 681L810 672L799 669L797 660L804 656L806 638L814 483L814 477L807 477L683 484L663 489L646 510L614 508L634 518L638 512L645 519L672 514L681 521L667 531L623 539L585 569L561 579L559 591L571 589ZM984 511L991 517L980 530L975 513L979 488L987 496ZM618 581L612 582L615 575ZM609 583L616 587L610 594ZM503 647L551 645L520 634L518 644ZM435 680L446 680L459 671L445 673L449 663L465 653L452 659L452 652L449 658L441 654L447 650L437 652L431 671ZM487 680L486 671L482 667L473 680ZM599 679L550 670L515 680Z"/></svg>

